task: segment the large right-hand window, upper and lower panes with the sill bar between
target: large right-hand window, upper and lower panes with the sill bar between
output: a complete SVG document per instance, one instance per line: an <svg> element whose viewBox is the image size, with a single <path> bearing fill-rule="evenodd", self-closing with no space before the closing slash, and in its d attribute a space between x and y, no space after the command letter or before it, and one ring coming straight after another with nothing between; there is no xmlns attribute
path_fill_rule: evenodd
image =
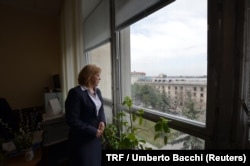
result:
<svg viewBox="0 0 250 166"><path fill-rule="evenodd" d="M173 1L135 20L119 30L122 85L130 86L121 97L130 95L148 120L163 116L182 128L171 129L167 145L155 142L153 131L138 136L155 149L204 149L199 136L207 108L207 1Z"/></svg>

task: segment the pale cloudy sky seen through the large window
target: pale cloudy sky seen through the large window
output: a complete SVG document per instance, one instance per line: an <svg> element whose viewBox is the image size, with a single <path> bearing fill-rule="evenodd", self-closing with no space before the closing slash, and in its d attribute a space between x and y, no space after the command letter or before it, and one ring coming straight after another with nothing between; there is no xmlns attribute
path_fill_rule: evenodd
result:
<svg viewBox="0 0 250 166"><path fill-rule="evenodd" d="M132 72L207 75L207 0L176 0L130 31Z"/></svg>

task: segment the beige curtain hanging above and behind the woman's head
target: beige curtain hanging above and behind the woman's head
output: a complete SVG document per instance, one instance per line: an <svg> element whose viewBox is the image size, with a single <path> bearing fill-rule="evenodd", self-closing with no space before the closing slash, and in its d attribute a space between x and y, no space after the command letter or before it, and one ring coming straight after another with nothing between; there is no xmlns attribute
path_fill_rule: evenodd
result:
<svg viewBox="0 0 250 166"><path fill-rule="evenodd" d="M61 9L61 53L63 94L76 86L83 66L83 28L81 0L64 0Z"/></svg>

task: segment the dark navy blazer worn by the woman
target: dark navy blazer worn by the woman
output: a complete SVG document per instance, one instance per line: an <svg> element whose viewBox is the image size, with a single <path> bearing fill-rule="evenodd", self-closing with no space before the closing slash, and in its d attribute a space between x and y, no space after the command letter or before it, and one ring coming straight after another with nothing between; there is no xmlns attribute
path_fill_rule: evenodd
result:
<svg viewBox="0 0 250 166"><path fill-rule="evenodd" d="M96 93L101 100L101 108L98 116L96 115L96 106L88 95L87 90L82 90L80 86L69 90L65 101L65 117L70 127L70 137L74 141L88 141L96 137L99 122L105 121L103 109L103 98L101 91L97 88Z"/></svg>

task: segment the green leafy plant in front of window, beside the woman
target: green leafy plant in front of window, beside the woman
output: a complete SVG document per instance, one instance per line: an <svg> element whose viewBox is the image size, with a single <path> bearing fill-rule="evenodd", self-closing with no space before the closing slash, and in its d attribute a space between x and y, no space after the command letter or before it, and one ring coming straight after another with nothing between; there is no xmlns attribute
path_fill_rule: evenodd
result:
<svg viewBox="0 0 250 166"><path fill-rule="evenodd" d="M114 124L107 124L103 139L104 149L152 149L146 146L146 141L139 138L137 134L145 128L142 128L144 110L132 111L133 101L126 96L123 103L125 110L122 110L114 117ZM163 138L167 144L168 133L170 132L168 120L160 118L153 126L154 140ZM149 130L149 129L146 129Z"/></svg>

